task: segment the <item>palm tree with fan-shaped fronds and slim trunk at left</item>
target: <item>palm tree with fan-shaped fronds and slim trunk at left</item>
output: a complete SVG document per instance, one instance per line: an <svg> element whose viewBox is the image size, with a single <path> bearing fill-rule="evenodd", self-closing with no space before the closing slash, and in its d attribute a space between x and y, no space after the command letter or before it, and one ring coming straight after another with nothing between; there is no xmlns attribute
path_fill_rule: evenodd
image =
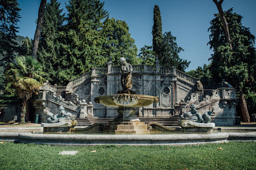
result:
<svg viewBox="0 0 256 170"><path fill-rule="evenodd" d="M21 124L25 124L25 115L28 100L32 94L37 94L43 81L45 81L42 65L31 56L19 56L15 63L10 63L6 69L5 77L8 84L15 89L17 95L22 99Z"/></svg>

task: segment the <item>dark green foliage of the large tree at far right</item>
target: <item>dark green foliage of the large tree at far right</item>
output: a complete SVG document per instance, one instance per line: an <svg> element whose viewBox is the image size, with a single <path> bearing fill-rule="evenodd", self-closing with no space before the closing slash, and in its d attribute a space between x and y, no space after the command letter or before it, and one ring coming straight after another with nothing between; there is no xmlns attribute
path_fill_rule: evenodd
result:
<svg viewBox="0 0 256 170"><path fill-rule="evenodd" d="M225 17L230 30L232 50L226 44L222 23L219 14L211 21L210 48L214 54L210 70L215 81L220 82L222 78L230 82L238 92L255 90L256 55L254 35L249 28L242 25L242 16L236 14L232 9L225 11ZM234 81L236 80L236 81Z"/></svg>

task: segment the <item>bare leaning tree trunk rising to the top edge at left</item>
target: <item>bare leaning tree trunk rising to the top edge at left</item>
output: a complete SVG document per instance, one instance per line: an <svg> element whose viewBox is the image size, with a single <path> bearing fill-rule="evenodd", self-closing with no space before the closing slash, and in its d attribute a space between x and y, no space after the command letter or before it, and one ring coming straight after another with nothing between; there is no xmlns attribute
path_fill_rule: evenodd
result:
<svg viewBox="0 0 256 170"><path fill-rule="evenodd" d="M46 0L41 0L40 7L38 10L37 27L36 27L36 32L34 33L34 42L32 47L32 56L34 58L37 58L37 49L38 49L39 38L41 34L42 19L44 18L45 5L46 5Z"/></svg>

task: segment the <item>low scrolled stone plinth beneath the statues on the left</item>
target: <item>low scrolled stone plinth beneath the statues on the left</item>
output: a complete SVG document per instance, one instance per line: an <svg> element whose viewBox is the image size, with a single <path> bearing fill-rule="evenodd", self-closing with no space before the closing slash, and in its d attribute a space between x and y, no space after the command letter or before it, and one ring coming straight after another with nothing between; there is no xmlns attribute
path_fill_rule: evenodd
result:
<svg viewBox="0 0 256 170"><path fill-rule="evenodd" d="M44 132L70 132L71 128L77 125L76 120L61 120L57 123L41 123L41 126L44 128Z"/></svg>

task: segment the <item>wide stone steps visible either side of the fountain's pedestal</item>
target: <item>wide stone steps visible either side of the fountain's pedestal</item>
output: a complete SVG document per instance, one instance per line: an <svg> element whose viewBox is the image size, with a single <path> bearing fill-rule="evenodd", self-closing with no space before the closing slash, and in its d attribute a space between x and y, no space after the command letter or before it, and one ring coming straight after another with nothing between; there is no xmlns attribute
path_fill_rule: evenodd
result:
<svg viewBox="0 0 256 170"><path fill-rule="evenodd" d="M87 117L87 118L76 118L77 126L90 126L95 123L106 123L113 121L114 118L99 118L99 117ZM180 117L139 117L141 122L148 124L149 122L157 122L158 124L165 126L179 126L178 121Z"/></svg>

